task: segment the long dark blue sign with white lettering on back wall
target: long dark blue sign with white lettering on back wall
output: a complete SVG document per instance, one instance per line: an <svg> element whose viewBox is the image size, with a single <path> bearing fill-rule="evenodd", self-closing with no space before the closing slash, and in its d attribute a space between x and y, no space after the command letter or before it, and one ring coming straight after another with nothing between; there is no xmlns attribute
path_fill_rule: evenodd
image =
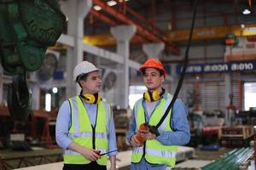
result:
<svg viewBox="0 0 256 170"><path fill-rule="evenodd" d="M176 73L181 74L182 65L177 65ZM214 73L214 72L230 72L230 71L256 71L256 60L241 62L212 63L201 65L188 65L186 73Z"/></svg>

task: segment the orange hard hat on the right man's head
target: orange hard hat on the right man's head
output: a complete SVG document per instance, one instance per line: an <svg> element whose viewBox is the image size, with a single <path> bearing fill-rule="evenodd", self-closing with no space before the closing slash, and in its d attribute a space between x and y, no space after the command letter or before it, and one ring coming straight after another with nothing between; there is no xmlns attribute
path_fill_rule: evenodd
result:
<svg viewBox="0 0 256 170"><path fill-rule="evenodd" d="M143 72L147 68L154 68L159 71L162 71L164 73L164 77L166 78L166 69L165 69L164 65L160 62L160 60L150 58L143 63L143 65L141 66L141 68L139 70L141 72Z"/></svg>

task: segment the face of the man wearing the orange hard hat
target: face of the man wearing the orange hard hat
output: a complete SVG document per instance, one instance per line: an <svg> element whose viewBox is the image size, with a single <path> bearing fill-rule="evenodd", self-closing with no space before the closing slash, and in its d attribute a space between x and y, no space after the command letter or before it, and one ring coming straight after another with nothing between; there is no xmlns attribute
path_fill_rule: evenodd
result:
<svg viewBox="0 0 256 170"><path fill-rule="evenodd" d="M148 90L155 90L161 88L164 76L160 76L160 71L154 68L147 68L143 75L143 82Z"/></svg>

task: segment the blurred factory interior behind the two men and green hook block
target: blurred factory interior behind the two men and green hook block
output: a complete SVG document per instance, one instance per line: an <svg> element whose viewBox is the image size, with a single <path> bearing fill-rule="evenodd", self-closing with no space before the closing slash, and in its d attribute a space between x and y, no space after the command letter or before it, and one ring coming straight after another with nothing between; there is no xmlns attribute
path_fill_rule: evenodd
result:
<svg viewBox="0 0 256 170"><path fill-rule="evenodd" d="M7 6L25 8L18 18L31 17L38 26L58 19L40 13L41 8L47 8L44 0L35 7L37 10L22 5L34 1L10 2L0 1L0 169L61 169L62 150L55 142L56 116L62 102L80 92L73 82L73 68L83 60L101 69L101 96L113 108L117 166L129 169L131 145L125 136L131 110L146 91L138 68L150 57L159 59L167 71L163 86L169 93L175 92L188 50L196 1L56 1L65 15L60 37L45 48L37 68L32 63L38 58L23 57L16 62L14 55L1 51L4 41L12 37L9 35L17 34L7 29L16 26L6 12ZM255 169L255 3L198 2L189 61L178 94L188 108L191 139L178 149L174 169ZM36 36L45 33L37 32L33 24L30 29ZM22 31L19 33L22 35ZM50 37L50 31L45 35ZM27 49L24 53L31 52ZM20 81L26 81L30 94L29 115L15 108L17 99L12 95L20 63L28 68ZM18 100L26 97L20 95Z"/></svg>

